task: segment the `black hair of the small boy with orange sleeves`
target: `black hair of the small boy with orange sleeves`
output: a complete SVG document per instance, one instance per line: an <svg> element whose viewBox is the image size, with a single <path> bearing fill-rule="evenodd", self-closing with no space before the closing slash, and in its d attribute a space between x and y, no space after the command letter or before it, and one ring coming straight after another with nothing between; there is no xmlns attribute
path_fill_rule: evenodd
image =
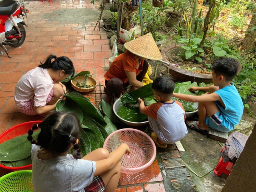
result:
<svg viewBox="0 0 256 192"><path fill-rule="evenodd" d="M167 76L159 76L152 83L152 89L167 95L173 93L174 86L172 78Z"/></svg>

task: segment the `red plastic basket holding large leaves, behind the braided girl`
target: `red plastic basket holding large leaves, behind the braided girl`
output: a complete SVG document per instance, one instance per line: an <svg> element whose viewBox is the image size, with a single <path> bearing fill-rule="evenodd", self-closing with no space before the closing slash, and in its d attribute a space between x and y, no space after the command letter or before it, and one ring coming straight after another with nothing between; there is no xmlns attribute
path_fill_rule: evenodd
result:
<svg viewBox="0 0 256 192"><path fill-rule="evenodd" d="M41 122L42 121L29 121L29 122L25 122L25 123L22 123L22 124L18 124L18 125L10 128L10 129L8 129L8 130L6 130L5 132L3 132L0 135L0 144L9 140L9 139L12 139L16 136L28 133L28 130L31 129L33 124L39 124ZM32 169L32 164L22 166L22 167L7 167L7 166L4 166L4 165L0 164L0 168L6 170L7 172L13 172L13 171L18 171L18 170L30 170L30 169Z"/></svg>

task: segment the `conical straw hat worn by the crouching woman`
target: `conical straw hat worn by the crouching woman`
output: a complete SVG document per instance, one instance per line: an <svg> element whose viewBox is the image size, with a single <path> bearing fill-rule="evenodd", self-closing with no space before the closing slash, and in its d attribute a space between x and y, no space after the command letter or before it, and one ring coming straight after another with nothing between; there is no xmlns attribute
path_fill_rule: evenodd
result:
<svg viewBox="0 0 256 192"><path fill-rule="evenodd" d="M138 56L150 60L162 60L162 55L151 33L140 36L124 44L124 47Z"/></svg>

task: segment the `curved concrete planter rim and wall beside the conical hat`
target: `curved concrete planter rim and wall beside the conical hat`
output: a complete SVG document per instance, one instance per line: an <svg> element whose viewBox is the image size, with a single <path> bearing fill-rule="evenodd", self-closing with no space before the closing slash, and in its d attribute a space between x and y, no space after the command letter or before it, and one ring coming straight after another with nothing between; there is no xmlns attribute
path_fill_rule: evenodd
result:
<svg viewBox="0 0 256 192"><path fill-rule="evenodd" d="M177 46L179 47L179 46ZM164 50L162 50L161 54L163 57L163 61L168 62L170 64L170 70L169 73L172 75L172 78L174 78L175 82L180 81L180 82L186 82L186 81L191 81L191 82L197 82L197 83L206 83L210 84L212 83L212 74L202 74L202 73L197 73L197 72L192 72L192 71L187 71L182 68L178 68L174 66L172 63L170 63L166 59L166 54L170 50L175 50L175 46L170 46ZM166 67L168 67L166 64L164 64Z"/></svg>

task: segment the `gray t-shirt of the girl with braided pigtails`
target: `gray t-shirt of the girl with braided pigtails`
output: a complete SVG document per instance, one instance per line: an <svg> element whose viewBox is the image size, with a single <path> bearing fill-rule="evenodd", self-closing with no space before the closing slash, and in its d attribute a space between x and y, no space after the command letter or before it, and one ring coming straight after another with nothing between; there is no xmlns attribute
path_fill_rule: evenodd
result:
<svg viewBox="0 0 256 192"><path fill-rule="evenodd" d="M32 184L34 192L84 192L91 184L96 162L74 159L72 155L50 160L37 158L40 146L32 145Z"/></svg>

